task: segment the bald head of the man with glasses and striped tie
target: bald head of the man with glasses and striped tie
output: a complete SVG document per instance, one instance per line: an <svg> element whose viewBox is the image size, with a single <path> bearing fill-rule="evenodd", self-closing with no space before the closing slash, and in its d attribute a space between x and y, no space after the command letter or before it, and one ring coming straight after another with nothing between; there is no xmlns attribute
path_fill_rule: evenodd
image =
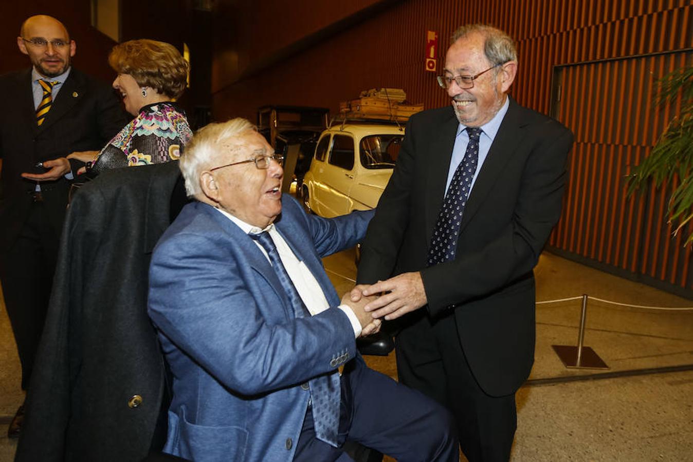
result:
<svg viewBox="0 0 693 462"><path fill-rule="evenodd" d="M17 46L44 77L57 77L67 71L77 49L62 22L48 15L26 19L19 29Z"/></svg>

